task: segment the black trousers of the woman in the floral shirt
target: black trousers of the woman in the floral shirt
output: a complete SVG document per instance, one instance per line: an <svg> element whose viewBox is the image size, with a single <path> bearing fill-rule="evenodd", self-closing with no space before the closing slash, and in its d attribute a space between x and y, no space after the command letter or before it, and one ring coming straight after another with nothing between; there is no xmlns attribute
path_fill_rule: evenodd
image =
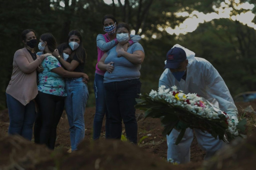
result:
<svg viewBox="0 0 256 170"><path fill-rule="evenodd" d="M65 97L38 91L35 99L39 106L34 126L35 143L46 144L54 149L56 129L64 110Z"/></svg>

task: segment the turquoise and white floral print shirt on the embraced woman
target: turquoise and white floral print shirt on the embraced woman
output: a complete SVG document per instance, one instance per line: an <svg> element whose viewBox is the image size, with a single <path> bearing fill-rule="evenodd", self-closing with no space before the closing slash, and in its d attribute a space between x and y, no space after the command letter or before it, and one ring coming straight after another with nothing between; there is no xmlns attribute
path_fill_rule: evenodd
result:
<svg viewBox="0 0 256 170"><path fill-rule="evenodd" d="M42 62L43 71L38 74L38 91L57 96L66 96L65 80L51 69L61 67L54 56L48 56Z"/></svg>

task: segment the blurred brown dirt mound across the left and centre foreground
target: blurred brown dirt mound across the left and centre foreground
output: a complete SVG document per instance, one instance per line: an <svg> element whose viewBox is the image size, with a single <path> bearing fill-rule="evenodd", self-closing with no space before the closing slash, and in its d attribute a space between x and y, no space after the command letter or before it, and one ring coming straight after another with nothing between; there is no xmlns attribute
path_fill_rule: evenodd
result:
<svg viewBox="0 0 256 170"><path fill-rule="evenodd" d="M15 135L1 136L0 142L0 169L3 170L193 170L201 165L173 165L143 148L119 140L84 140L73 153L63 149L51 151Z"/></svg>

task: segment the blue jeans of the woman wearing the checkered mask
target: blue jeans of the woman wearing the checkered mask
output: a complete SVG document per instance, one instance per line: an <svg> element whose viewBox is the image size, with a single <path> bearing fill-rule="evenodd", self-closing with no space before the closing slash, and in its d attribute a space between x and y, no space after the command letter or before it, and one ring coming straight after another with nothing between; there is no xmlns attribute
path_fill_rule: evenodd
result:
<svg viewBox="0 0 256 170"><path fill-rule="evenodd" d="M106 101L105 101L105 90L103 84L104 76L96 74L94 78L94 94L96 100L96 111L93 121L93 139L98 139L101 135L101 127L104 115L106 114L106 122L105 122L105 131L106 138L109 138L109 116L106 109Z"/></svg>

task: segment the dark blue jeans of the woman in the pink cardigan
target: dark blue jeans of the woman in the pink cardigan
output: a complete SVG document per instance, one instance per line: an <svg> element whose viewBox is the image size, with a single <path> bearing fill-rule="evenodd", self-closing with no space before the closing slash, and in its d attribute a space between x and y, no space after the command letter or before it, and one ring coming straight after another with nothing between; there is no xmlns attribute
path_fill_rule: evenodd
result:
<svg viewBox="0 0 256 170"><path fill-rule="evenodd" d="M8 134L18 134L31 141L36 115L34 101L30 101L24 106L21 102L7 93L6 101L10 118Z"/></svg>

